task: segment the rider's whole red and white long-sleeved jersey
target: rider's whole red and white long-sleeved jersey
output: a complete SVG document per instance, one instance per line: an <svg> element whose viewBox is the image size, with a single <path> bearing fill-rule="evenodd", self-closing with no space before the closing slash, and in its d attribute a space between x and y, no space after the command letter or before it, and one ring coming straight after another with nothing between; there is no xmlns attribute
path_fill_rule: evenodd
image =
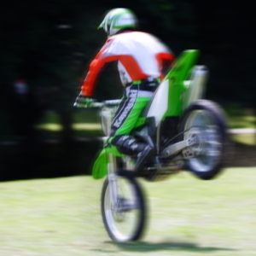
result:
<svg viewBox="0 0 256 256"><path fill-rule="evenodd" d="M82 93L92 96L96 78L102 67L110 61L118 61L119 76L122 84L146 79L148 77L163 79L161 69L165 63L171 65L174 60L172 51L158 38L145 32L122 32L108 38L84 79Z"/></svg>

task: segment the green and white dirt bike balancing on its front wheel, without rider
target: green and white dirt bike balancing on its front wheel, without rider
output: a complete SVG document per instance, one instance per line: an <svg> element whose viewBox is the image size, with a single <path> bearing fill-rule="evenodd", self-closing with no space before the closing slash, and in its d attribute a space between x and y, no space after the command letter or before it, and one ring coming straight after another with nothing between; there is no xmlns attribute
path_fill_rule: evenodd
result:
<svg viewBox="0 0 256 256"><path fill-rule="evenodd" d="M154 157L137 167L136 157L114 155L104 143L94 163L92 176L107 176L102 187L102 219L113 241L136 241L143 236L147 206L137 177L155 182L186 170L207 180L223 170L226 118L216 102L202 99L208 70L195 65L199 55L199 50L189 49L177 57L132 131L139 141L155 148ZM90 105L101 108L107 142L119 102Z"/></svg>

